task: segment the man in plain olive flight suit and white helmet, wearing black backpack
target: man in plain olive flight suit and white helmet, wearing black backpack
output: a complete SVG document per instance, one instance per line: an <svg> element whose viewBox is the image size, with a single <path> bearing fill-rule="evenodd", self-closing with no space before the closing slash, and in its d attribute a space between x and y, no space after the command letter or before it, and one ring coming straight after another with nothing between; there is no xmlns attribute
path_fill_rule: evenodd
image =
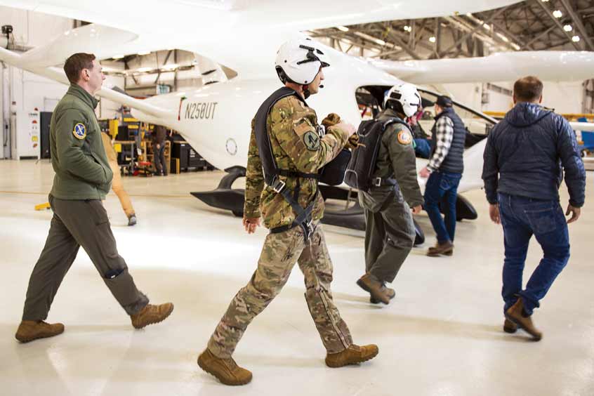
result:
<svg viewBox="0 0 594 396"><path fill-rule="evenodd" d="M403 121L421 105L421 96L411 84L392 87L377 119ZM365 210L365 270L357 284L371 294L371 303L390 303L396 295L385 286L392 282L409 256L415 239L412 213L420 213L423 195L416 179L416 158L411 131L399 122L389 124L381 136L368 191L359 191Z"/></svg>

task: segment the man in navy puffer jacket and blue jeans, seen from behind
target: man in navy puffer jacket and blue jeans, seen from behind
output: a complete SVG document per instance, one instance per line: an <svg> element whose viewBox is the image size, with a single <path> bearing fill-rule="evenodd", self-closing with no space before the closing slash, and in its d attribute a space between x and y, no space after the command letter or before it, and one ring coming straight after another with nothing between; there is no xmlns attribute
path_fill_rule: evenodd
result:
<svg viewBox="0 0 594 396"><path fill-rule="evenodd" d="M541 107L542 91L536 77L515 82L515 107L489 133L482 171L489 215L503 224L503 330L513 333L520 327L537 341L542 333L530 315L569 260L567 223L579 218L586 190L574 131L563 117ZM558 192L564 171L569 190L565 216L572 214L567 222ZM532 235L544 256L522 290Z"/></svg>

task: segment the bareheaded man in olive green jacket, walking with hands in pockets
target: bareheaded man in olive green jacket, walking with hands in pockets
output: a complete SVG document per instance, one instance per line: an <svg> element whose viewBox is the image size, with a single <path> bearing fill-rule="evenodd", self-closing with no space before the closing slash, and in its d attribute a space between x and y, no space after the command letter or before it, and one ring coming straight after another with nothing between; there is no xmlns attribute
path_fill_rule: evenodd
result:
<svg viewBox="0 0 594 396"><path fill-rule="evenodd" d="M150 305L136 288L103 208L110 191L112 170L105 155L95 117L93 97L105 76L95 55L75 53L65 62L71 85L55 107L50 125L51 161L55 177L49 194L53 218L44 250L29 279L22 322L15 337L23 343L56 336L64 325L44 322L62 279L77 257L79 247L88 253L103 282L141 329L161 322L173 304Z"/></svg>

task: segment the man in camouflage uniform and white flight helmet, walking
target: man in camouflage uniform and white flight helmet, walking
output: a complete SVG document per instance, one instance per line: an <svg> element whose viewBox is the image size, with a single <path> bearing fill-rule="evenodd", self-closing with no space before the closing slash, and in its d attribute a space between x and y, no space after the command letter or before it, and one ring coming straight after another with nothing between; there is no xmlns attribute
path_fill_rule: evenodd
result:
<svg viewBox="0 0 594 396"><path fill-rule="evenodd" d="M324 79L324 62L321 60L306 65L310 69L315 66L315 70L310 71L309 78L300 79L299 70L291 70L291 65L305 59L308 55L307 48L314 45L312 41L303 39L289 41L277 55L277 65L289 64L284 65L279 77L286 87L292 88L301 98L317 93L319 84ZM291 55L298 56L298 59L291 58ZM304 84L305 81L310 82ZM272 155L279 169L317 173L341 152L349 137L355 133L352 125L338 123L329 127L326 135L320 137L318 128L315 111L295 95L282 98L272 106L266 119L266 129ZM231 355L248 324L281 291L295 262L299 264L305 277L305 300L327 351L326 364L329 367L342 367L364 362L378 353L376 345L359 347L352 343L348 326L334 305L330 290L332 263L322 225L319 223L324 213L324 200L317 194L317 180L291 176L282 176L282 180L290 191L295 191L297 183L300 183L297 202L303 208L315 199L312 210L313 231L310 238L304 237L304 230L299 226L268 234L256 272L233 298L216 326L208 347L199 356L199 366L227 385L243 385L251 381L251 372L238 367ZM263 218L265 227L273 230L293 224L296 213L281 194L265 185L263 163L256 142L255 121L252 121L243 220L247 232L256 230L260 225L260 217Z"/></svg>

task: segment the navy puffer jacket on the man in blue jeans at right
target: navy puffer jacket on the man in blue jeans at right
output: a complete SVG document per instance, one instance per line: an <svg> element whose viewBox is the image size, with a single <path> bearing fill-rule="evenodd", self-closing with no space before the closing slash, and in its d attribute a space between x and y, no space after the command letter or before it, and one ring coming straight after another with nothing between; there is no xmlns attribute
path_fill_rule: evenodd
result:
<svg viewBox="0 0 594 396"><path fill-rule="evenodd" d="M565 171L569 204L583 205L586 171L575 133L565 118L540 105L517 103L489 133L483 158L490 204L497 203L497 192L558 200Z"/></svg>

